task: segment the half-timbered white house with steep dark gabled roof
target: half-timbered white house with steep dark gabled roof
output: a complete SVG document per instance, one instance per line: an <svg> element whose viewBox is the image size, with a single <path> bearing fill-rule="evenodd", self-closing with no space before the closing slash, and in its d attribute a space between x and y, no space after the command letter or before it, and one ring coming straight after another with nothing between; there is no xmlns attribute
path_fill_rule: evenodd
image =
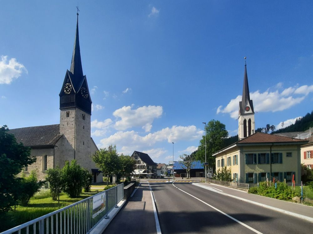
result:
<svg viewBox="0 0 313 234"><path fill-rule="evenodd" d="M157 164L146 153L134 151L131 158L136 160L135 173L153 173L156 176Z"/></svg>

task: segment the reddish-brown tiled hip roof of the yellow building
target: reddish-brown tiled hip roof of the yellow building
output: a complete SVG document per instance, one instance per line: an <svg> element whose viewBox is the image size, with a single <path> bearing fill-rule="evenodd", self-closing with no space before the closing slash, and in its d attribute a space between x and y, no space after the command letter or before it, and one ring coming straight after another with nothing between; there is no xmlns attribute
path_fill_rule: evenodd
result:
<svg viewBox="0 0 313 234"><path fill-rule="evenodd" d="M307 140L295 139L290 137L266 134L256 132L251 136L248 136L244 139L239 140L236 144L244 144L244 143L287 143L287 142L307 142Z"/></svg>

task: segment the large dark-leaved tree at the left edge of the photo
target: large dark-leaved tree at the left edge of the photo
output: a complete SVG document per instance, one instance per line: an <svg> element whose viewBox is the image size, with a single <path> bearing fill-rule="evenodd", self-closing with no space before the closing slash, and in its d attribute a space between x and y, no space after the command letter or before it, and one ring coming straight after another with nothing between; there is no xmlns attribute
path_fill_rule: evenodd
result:
<svg viewBox="0 0 313 234"><path fill-rule="evenodd" d="M13 134L8 133L7 125L0 128L0 216L18 204L21 178L16 175L22 169L36 162L30 156L30 148L17 143Z"/></svg>

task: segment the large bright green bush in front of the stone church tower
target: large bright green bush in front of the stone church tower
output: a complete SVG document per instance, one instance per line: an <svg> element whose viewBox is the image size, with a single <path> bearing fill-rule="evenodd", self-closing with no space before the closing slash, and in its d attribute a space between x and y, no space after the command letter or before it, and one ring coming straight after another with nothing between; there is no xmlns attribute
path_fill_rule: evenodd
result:
<svg viewBox="0 0 313 234"><path fill-rule="evenodd" d="M86 184L87 174L89 172L77 164L76 159L73 159L71 163L65 161L61 174L62 191L69 197L79 197Z"/></svg>

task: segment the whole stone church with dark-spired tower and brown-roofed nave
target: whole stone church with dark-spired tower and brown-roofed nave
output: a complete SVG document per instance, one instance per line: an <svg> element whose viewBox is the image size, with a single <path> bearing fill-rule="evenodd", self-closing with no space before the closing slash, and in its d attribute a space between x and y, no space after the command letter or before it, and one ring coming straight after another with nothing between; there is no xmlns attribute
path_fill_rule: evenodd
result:
<svg viewBox="0 0 313 234"><path fill-rule="evenodd" d="M76 159L93 174L93 182L102 182L102 173L96 168L90 155L98 150L90 136L91 98L80 57L78 13L76 35L70 70L59 93L60 124L10 129L17 142L31 148L37 161L25 167L28 174L37 169L38 178L44 180L48 168L64 166L66 160Z"/></svg>

